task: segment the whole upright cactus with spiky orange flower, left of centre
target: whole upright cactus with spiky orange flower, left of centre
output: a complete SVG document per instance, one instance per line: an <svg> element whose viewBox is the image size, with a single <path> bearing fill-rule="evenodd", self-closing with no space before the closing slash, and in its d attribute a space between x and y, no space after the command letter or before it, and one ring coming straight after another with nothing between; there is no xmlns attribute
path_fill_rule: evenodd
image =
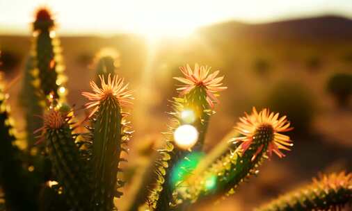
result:
<svg viewBox="0 0 352 211"><path fill-rule="evenodd" d="M92 81L94 92L82 94L90 100L86 107L94 108L90 113L93 210L110 211L114 208L113 198L122 195L118 188L123 182L117 176L121 171L120 162L125 161L121 152L127 151L132 133L125 119L128 114L122 112L122 107L130 105L133 98L123 78L109 75L105 81L103 76L99 77L101 87Z"/></svg>

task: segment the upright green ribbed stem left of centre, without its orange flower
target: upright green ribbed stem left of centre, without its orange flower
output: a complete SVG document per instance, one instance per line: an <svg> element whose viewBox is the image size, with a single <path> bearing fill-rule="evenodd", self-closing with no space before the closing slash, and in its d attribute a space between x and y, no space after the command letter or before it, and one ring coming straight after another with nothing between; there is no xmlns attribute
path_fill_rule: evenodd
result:
<svg viewBox="0 0 352 211"><path fill-rule="evenodd" d="M118 196L118 174L120 153L122 151L122 115L118 102L106 99L96 112L93 121L93 203L95 210L111 210L113 197Z"/></svg>

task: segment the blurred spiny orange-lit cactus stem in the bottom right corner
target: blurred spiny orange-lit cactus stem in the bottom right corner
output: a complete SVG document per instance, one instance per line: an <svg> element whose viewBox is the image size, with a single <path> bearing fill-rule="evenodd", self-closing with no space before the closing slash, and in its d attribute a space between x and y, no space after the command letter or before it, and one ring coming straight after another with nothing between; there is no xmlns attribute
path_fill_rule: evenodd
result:
<svg viewBox="0 0 352 211"><path fill-rule="evenodd" d="M342 210L352 202L352 174L341 172L314 178L310 185L280 196L257 211Z"/></svg>

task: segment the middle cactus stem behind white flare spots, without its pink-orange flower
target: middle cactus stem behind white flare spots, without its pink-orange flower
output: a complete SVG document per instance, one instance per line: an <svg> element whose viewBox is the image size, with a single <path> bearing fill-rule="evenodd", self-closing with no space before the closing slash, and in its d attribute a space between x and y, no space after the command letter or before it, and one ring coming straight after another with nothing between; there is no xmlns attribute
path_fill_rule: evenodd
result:
<svg viewBox="0 0 352 211"><path fill-rule="evenodd" d="M199 89L199 90L198 90ZM198 142L195 146L192 147L191 150L199 151L202 149L205 139L205 133L207 131L207 122L208 116L204 112L204 103L206 101L202 101L205 99L204 92L200 91L202 88L195 88L193 92L190 94L186 94L184 99L175 99L175 106L174 106L174 121L179 122L182 124L182 119L180 119L180 113L184 108L189 109L189 105L193 105L192 109L198 115L198 118L195 120L195 128L197 128L199 137ZM201 95L198 95L201 94ZM199 100L200 99L200 100ZM199 103L199 104L198 104ZM201 118L207 119L201 119ZM177 124L174 128L177 128L179 124ZM175 146L175 141L173 140L173 133L175 130L173 128L170 129L168 132L166 139L166 148L159 150L161 153L161 158L157 161L157 186L154 187L152 194L150 195L150 201L154 201L154 209L155 210L168 210L173 207L173 203L175 203L175 199L173 197L173 190L175 189L175 184L172 184L170 177L172 175L172 170L174 169L175 165L180 161L186 158L186 155L189 151L184 151L183 149L179 149ZM158 190L160 191L158 193Z"/></svg>

